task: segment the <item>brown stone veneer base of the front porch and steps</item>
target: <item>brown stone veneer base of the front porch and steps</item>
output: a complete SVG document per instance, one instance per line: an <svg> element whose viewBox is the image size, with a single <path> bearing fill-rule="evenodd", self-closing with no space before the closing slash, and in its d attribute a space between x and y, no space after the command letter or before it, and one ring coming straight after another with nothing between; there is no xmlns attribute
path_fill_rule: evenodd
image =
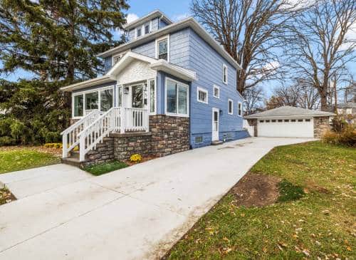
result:
<svg viewBox="0 0 356 260"><path fill-rule="evenodd" d="M136 153L163 157L186 150L189 150L189 118L150 115L150 132L112 133L88 152L81 166L129 160Z"/></svg>

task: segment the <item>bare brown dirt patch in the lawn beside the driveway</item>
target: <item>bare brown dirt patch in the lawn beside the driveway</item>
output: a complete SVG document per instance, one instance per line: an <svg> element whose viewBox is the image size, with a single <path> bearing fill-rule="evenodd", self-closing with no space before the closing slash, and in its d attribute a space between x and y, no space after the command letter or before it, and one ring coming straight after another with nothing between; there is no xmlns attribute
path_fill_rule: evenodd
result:
<svg viewBox="0 0 356 260"><path fill-rule="evenodd" d="M279 177L248 172L231 189L231 193L236 197L238 206L263 207L277 201L279 182L281 182Z"/></svg>

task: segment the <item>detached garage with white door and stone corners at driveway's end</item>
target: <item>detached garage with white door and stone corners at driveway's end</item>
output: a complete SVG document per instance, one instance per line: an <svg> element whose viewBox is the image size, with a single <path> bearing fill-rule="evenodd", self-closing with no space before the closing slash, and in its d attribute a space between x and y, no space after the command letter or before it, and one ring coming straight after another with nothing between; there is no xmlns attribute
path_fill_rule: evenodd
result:
<svg viewBox="0 0 356 260"><path fill-rule="evenodd" d="M244 117L261 137L321 137L333 113L283 106Z"/></svg>

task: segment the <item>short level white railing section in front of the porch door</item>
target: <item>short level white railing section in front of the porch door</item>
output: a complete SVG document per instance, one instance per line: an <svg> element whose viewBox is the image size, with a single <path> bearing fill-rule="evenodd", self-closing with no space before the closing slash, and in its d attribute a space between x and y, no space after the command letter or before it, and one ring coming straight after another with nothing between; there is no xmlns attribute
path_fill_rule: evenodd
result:
<svg viewBox="0 0 356 260"><path fill-rule="evenodd" d="M143 108L125 108L124 129L126 131L149 131L149 113Z"/></svg>

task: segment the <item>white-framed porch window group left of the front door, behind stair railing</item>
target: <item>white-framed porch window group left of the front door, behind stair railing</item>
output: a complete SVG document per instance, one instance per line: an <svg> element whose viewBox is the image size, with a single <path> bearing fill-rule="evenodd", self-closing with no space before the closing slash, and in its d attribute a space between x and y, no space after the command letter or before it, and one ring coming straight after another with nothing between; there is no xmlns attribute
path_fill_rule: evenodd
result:
<svg viewBox="0 0 356 260"><path fill-rule="evenodd" d="M91 110L108 111L114 104L114 86L87 90L72 95L72 117L81 118Z"/></svg>

